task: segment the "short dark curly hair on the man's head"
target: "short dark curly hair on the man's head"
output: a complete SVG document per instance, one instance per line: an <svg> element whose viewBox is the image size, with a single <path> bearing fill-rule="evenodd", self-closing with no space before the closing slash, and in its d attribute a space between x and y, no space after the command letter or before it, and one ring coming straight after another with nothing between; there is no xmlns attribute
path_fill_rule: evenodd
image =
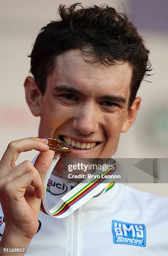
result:
<svg viewBox="0 0 168 256"><path fill-rule="evenodd" d="M88 63L100 61L110 66L128 62L132 65L130 107L141 81L152 69L149 51L127 15L117 13L105 4L83 8L80 3L69 8L59 5L59 14L61 20L51 21L41 28L29 55L30 72L42 94L45 93L46 78L56 65L56 56L71 49L80 49Z"/></svg>

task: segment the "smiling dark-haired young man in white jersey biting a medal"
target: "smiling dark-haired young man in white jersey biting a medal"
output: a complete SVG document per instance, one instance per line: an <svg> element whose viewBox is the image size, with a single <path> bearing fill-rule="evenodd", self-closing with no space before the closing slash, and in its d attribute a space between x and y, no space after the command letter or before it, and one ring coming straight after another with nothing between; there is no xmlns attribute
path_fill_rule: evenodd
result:
<svg viewBox="0 0 168 256"><path fill-rule="evenodd" d="M39 136L74 146L62 154L50 177L50 206L69 191L73 194L62 178L64 158L115 153L120 133L135 121L141 101L136 93L150 71L149 51L125 14L76 4L60 6L59 13L61 20L38 34L30 56L33 77L24 83L28 106L41 117ZM28 247L28 255L168 254L167 198L115 184L65 218L39 212L43 178L54 156L47 144L46 139L24 138L5 151L0 247ZM33 148L42 152L34 166L30 161L15 166L20 152Z"/></svg>

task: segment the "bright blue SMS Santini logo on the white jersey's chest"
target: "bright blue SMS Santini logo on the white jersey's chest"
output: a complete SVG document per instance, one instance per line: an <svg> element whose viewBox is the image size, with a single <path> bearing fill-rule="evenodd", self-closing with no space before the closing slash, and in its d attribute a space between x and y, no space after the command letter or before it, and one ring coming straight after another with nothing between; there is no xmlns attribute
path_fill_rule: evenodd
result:
<svg viewBox="0 0 168 256"><path fill-rule="evenodd" d="M146 246L146 229L143 224L112 220L113 242L134 246Z"/></svg>

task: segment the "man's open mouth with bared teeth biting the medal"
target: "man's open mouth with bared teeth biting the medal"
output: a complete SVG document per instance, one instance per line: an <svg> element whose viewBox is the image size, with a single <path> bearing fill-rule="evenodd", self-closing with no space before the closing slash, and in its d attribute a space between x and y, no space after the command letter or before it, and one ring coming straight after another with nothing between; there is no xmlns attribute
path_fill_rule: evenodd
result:
<svg viewBox="0 0 168 256"><path fill-rule="evenodd" d="M61 140L61 141L64 141L65 143L67 143L68 145L71 145L74 147L74 149L92 149L94 147L96 147L97 145L100 144L99 141L88 141L88 142L82 142L82 141L77 141L76 139L74 138L71 138L69 136L64 136L64 135L59 135L58 138Z"/></svg>

